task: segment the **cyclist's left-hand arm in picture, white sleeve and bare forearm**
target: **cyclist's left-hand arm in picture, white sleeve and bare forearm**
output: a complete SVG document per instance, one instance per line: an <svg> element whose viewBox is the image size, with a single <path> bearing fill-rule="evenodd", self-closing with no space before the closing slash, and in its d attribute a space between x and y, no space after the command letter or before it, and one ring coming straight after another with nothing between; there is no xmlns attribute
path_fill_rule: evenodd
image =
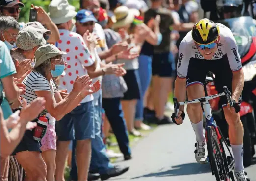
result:
<svg viewBox="0 0 256 181"><path fill-rule="evenodd" d="M182 40L179 46L179 59L176 68L177 79L174 87L174 96L179 102L183 102L186 99L186 76L191 51L189 47L185 40ZM179 110L184 111L184 106L180 106Z"/></svg>

